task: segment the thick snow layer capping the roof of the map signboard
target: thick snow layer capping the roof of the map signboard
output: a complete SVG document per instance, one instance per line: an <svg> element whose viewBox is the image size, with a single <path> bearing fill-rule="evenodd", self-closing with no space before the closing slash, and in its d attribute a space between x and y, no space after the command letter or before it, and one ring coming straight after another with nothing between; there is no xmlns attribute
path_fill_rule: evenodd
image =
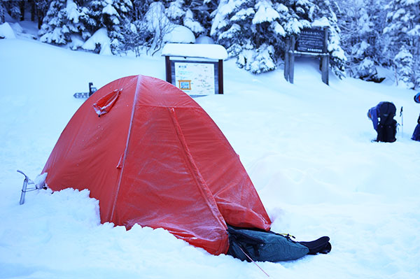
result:
<svg viewBox="0 0 420 279"><path fill-rule="evenodd" d="M162 55L222 60L228 58L228 52L223 45L206 43L167 43L162 49Z"/></svg>

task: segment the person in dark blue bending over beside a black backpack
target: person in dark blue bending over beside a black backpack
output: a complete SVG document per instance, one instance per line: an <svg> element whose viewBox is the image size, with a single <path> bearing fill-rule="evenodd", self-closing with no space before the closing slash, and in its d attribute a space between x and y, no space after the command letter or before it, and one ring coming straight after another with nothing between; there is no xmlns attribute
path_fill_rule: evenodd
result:
<svg viewBox="0 0 420 279"><path fill-rule="evenodd" d="M377 131L376 141L393 143L397 139L397 121L393 119L396 112L395 105L388 101L381 101L367 111L367 117L372 120L373 128Z"/></svg>

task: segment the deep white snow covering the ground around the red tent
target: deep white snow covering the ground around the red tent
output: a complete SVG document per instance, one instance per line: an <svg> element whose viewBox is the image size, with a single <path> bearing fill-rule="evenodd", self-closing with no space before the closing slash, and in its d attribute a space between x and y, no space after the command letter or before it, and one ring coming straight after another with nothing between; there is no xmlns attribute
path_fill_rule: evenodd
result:
<svg viewBox="0 0 420 279"><path fill-rule="evenodd" d="M0 278L266 278L252 263L209 255L163 229L100 224L98 201L66 189L27 193L73 98L136 74L165 79L163 57L74 52L31 39L0 40ZM253 76L224 64L225 94L197 98L240 155L273 231L299 241L327 235L328 255L258 265L272 278L419 278L420 143L410 137L416 92L330 76L297 59L295 84L278 70ZM371 143L367 110L392 101L398 140ZM403 131L402 131L403 130Z"/></svg>

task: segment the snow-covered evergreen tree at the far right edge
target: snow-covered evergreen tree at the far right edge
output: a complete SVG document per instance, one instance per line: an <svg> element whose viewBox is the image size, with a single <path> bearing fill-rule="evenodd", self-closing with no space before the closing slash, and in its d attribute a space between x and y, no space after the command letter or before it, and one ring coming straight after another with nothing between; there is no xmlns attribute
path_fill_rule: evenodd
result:
<svg viewBox="0 0 420 279"><path fill-rule="evenodd" d="M397 79L408 88L420 87L420 0L392 0L386 11L385 50Z"/></svg>

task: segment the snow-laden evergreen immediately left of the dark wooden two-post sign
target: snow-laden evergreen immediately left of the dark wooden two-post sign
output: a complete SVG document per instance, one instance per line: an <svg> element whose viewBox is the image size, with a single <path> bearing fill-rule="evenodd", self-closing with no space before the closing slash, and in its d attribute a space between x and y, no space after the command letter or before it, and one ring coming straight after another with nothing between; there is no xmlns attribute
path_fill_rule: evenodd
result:
<svg viewBox="0 0 420 279"><path fill-rule="evenodd" d="M239 67L252 73L272 71L286 35L280 22L287 11L286 6L274 6L270 0L222 0L210 34L230 57L237 57Z"/></svg>

